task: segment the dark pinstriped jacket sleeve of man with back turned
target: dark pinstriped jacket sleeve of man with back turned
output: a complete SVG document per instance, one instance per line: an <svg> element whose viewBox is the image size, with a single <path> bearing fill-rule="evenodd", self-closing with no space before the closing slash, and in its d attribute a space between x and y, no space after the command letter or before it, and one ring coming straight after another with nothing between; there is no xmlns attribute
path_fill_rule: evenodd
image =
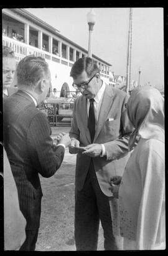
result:
<svg viewBox="0 0 168 256"><path fill-rule="evenodd" d="M51 129L45 114L39 112L30 122L27 131L29 155L34 168L43 177L51 177L62 164L65 149L62 145L54 147L50 137Z"/></svg>

